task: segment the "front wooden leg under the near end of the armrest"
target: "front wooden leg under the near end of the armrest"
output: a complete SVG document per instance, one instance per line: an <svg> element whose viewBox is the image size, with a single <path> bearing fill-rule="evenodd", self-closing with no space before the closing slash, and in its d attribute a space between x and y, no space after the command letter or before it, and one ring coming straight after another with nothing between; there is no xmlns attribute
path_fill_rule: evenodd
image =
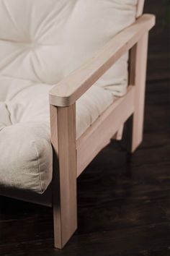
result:
<svg viewBox="0 0 170 256"><path fill-rule="evenodd" d="M77 228L75 104L50 106L53 170L53 218L55 247L63 246ZM58 155L58 164L56 158Z"/></svg>

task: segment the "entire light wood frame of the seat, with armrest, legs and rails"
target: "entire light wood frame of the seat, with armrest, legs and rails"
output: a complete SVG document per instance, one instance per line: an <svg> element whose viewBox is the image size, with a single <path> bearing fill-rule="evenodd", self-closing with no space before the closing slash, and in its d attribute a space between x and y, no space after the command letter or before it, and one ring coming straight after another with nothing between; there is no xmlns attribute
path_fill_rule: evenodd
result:
<svg viewBox="0 0 170 256"><path fill-rule="evenodd" d="M43 195L1 189L0 194L53 207L55 247L63 248L77 228L76 178L112 137L120 140L125 121L133 116L130 150L143 137L148 31L155 25L138 1L137 20L115 35L83 67L50 90L50 131L53 144L53 181ZM128 92L117 98L76 140L76 100L120 57L130 51Z"/></svg>

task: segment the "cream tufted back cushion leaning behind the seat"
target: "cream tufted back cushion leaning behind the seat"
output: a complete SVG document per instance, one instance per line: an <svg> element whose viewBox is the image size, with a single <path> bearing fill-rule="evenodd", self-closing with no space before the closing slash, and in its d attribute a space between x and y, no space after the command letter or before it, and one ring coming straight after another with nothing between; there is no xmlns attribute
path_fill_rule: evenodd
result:
<svg viewBox="0 0 170 256"><path fill-rule="evenodd" d="M0 101L5 77L55 85L135 20L138 0L1 0ZM96 85L123 95L128 56Z"/></svg>

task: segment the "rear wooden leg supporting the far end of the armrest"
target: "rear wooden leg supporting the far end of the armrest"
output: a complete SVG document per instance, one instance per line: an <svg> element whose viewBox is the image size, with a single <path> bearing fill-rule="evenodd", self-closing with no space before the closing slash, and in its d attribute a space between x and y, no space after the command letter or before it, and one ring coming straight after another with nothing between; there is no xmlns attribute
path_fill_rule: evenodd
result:
<svg viewBox="0 0 170 256"><path fill-rule="evenodd" d="M135 85L135 111L133 114L132 141L130 143L131 152L134 152L143 140L147 53L148 33L140 38L130 53L130 85Z"/></svg>

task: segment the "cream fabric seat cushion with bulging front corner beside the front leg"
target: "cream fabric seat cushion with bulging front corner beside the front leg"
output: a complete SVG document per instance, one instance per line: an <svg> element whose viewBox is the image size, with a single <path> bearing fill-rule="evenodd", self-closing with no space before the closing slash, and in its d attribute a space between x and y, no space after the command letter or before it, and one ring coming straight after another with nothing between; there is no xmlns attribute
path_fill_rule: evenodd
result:
<svg viewBox="0 0 170 256"><path fill-rule="evenodd" d="M7 80L9 93L0 103L0 185L42 193L53 173L51 86L11 78L6 78L6 84ZM76 103L76 136L80 137L112 101L112 93L92 86Z"/></svg>

